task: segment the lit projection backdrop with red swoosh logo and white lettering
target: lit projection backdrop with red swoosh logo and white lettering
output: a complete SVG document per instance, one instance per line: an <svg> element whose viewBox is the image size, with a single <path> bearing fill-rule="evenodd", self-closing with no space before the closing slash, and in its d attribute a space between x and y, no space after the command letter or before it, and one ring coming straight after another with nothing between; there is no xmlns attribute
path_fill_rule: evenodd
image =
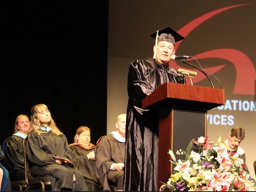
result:
<svg viewBox="0 0 256 192"><path fill-rule="evenodd" d="M194 56L220 81L210 75L215 88L225 89L226 104L208 111L209 140L217 142L220 135L224 140L232 127L243 126L245 139L240 147L246 152L246 164L255 179L255 10L254 0L110 0L107 132L115 130L116 116L126 113L130 62L152 57L155 40L149 34L170 26L186 38L176 44L175 55ZM187 62L199 67L194 59ZM193 84L211 87L206 76L195 68L180 60L170 65L197 71Z"/></svg>

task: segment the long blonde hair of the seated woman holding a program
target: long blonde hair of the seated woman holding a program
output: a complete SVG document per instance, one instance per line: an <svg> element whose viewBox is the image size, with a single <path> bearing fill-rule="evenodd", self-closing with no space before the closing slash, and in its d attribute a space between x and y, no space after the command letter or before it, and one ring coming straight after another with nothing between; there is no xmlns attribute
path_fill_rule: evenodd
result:
<svg viewBox="0 0 256 192"><path fill-rule="evenodd" d="M61 135L62 132L60 131L60 129L58 129L56 123L53 121L52 113L50 112L50 110L48 109L48 107L45 104L37 104L37 105L34 105L32 107L32 109L31 109L31 121L30 121L30 132L31 131L37 131L39 135L41 134L41 132L43 132L40 129L41 124L40 124L40 121L37 118L37 113L40 113L43 110L48 110L49 113L51 114L51 120L49 122L49 126L50 126L52 132L54 134L58 135L58 136Z"/></svg>

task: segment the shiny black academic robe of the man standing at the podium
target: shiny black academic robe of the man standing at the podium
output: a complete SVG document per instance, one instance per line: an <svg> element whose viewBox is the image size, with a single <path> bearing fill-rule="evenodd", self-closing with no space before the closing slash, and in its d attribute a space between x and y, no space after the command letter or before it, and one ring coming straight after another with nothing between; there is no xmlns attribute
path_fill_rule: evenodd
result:
<svg viewBox="0 0 256 192"><path fill-rule="evenodd" d="M142 100L166 82L185 84L185 78L169 65L164 67L153 58L131 62L128 73L125 191L158 191L159 110L143 109Z"/></svg>

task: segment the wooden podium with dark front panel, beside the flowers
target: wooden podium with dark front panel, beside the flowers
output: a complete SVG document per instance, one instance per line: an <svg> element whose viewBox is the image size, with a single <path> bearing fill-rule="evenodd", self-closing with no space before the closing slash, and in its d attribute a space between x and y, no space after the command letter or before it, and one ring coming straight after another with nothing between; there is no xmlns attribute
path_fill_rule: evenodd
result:
<svg viewBox="0 0 256 192"><path fill-rule="evenodd" d="M143 108L160 109L158 189L162 185L159 181L166 183L174 168L169 161L169 149L176 155L179 149L186 151L192 139L205 137L207 111L225 104L224 97L224 89L164 83L143 99Z"/></svg>

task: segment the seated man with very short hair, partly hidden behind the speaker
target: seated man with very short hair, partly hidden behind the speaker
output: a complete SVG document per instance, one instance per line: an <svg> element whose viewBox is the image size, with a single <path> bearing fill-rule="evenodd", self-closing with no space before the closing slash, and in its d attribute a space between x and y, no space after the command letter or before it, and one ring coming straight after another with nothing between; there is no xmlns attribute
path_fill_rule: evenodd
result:
<svg viewBox="0 0 256 192"><path fill-rule="evenodd" d="M97 141L96 175L103 191L110 191L109 185L115 185L117 191L123 191L125 167L125 127L126 114L117 117L116 131Z"/></svg>

